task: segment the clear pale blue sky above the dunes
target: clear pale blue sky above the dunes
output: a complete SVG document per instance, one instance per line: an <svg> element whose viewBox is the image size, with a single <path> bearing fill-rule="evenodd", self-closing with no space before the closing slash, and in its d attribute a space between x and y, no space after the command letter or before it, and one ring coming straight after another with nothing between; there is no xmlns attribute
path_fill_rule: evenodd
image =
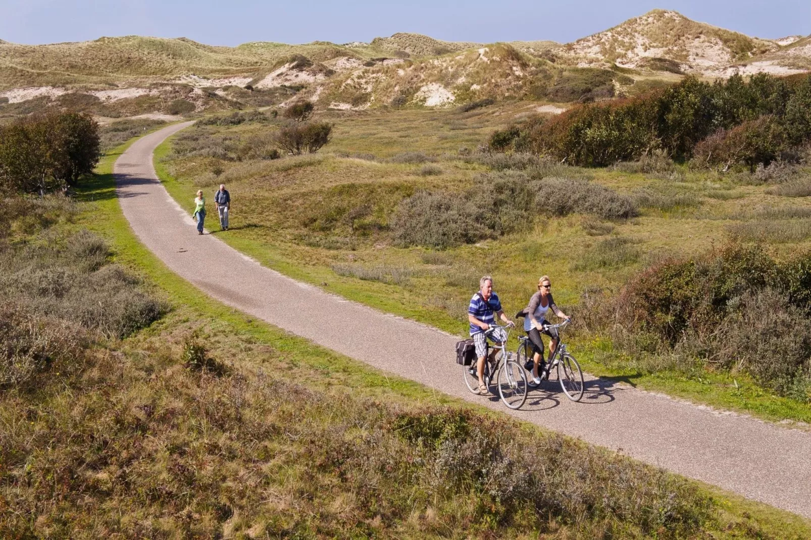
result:
<svg viewBox="0 0 811 540"><path fill-rule="evenodd" d="M238 45L247 41L345 43L418 32L448 41L567 42L655 7L750 36L811 33L811 0L0 0L0 39L33 45L139 34Z"/></svg>

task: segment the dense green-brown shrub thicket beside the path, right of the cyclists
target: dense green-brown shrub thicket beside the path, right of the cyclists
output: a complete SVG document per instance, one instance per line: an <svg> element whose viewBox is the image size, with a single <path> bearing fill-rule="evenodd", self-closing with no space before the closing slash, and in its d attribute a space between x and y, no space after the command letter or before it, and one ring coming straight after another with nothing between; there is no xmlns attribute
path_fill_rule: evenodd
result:
<svg viewBox="0 0 811 540"><path fill-rule="evenodd" d="M594 298L592 296L591 298ZM811 259L777 261L730 244L664 259L619 295L591 303L590 324L637 360L744 372L782 396L811 402Z"/></svg>

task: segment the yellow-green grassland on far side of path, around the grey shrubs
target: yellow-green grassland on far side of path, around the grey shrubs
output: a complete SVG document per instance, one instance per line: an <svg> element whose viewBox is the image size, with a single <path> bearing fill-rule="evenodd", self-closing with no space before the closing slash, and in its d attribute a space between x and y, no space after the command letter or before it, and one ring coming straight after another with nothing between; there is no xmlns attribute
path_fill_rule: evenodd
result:
<svg viewBox="0 0 811 540"><path fill-rule="evenodd" d="M548 274L556 301L583 319L587 314L578 313L577 304L586 291L616 293L629 276L663 257L697 255L733 238L766 242L778 258L811 247L811 207L802 197L777 195L783 184L753 185L748 175L699 174L669 165L645 173L633 164L550 173L628 195L639 208L632 219L573 213L444 251L394 246L389 219L398 202L420 190L459 193L491 182L492 169L504 163L466 154L532 106L495 105L464 114L331 114L324 119L336 122L333 143L314 156L278 161L238 161L214 152L238 153L240 141L271 133L272 122L201 126L159 148L156 167L184 206L198 188L213 191L225 182L234 211L230 233L220 238L263 264L460 334L467 301L485 273L496 277L509 315L526 305L538 276ZM809 182L807 172L796 174L792 182ZM353 215L359 217L347 217ZM592 373L761 418L811 421L809 405L772 395L744 374L650 366L611 341L577 339L577 356Z"/></svg>

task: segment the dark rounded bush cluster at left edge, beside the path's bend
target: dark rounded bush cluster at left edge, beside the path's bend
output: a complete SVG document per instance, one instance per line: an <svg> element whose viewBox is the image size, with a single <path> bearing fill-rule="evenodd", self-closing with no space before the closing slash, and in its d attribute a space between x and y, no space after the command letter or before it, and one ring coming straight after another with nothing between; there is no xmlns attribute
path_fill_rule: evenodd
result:
<svg viewBox="0 0 811 540"><path fill-rule="evenodd" d="M0 126L0 189L44 194L75 186L99 161L88 114L51 113Z"/></svg>

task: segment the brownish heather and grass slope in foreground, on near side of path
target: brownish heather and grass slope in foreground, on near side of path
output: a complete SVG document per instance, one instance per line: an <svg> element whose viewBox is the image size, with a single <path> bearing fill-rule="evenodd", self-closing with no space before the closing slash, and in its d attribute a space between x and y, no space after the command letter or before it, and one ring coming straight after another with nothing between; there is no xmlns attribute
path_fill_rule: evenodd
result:
<svg viewBox="0 0 811 540"><path fill-rule="evenodd" d="M109 189L99 185L106 178L94 189ZM44 199L62 219L25 233L16 221L27 212L6 212L15 232L0 283L11 300L0 314L4 537L805 530L757 507L743 513L626 456L437 405L416 385L391 387L348 359L195 299L149 255L125 259L164 276L161 288L135 279L110 263L105 242L71 223L106 234L121 227L114 249L143 249L114 200L86 195L99 202L77 210ZM307 376L315 368L320 377Z"/></svg>

